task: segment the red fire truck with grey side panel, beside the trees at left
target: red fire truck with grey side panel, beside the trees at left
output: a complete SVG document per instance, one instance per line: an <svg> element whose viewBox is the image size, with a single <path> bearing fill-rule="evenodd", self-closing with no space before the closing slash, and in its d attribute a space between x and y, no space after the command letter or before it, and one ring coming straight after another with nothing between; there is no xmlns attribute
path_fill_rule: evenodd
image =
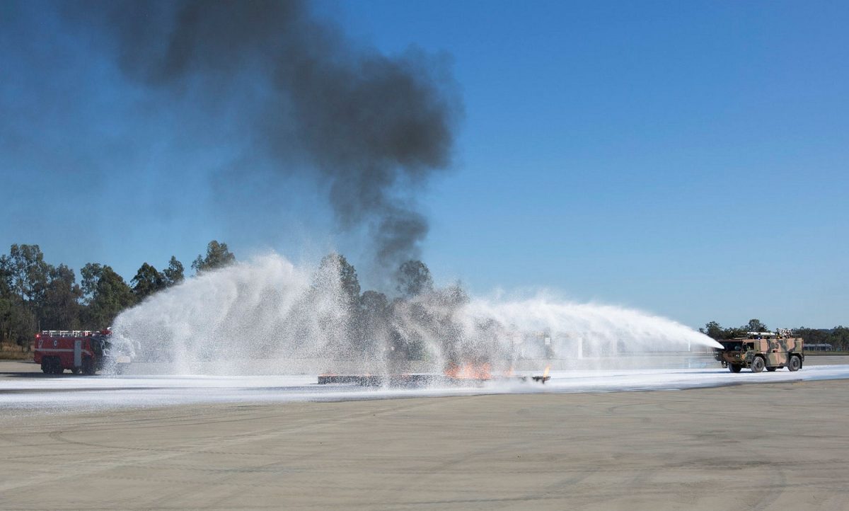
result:
<svg viewBox="0 0 849 511"><path fill-rule="evenodd" d="M35 361L47 374L94 374L107 366L116 373L130 362L130 357L111 353L111 332L88 330L43 330L36 334Z"/></svg>

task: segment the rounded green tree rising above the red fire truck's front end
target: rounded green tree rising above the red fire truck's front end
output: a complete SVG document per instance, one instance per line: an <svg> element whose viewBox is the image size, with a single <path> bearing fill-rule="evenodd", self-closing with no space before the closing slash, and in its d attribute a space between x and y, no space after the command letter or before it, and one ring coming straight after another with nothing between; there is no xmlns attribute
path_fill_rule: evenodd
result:
<svg viewBox="0 0 849 511"><path fill-rule="evenodd" d="M87 328L107 327L121 311L135 305L132 289L111 267L88 263L80 273L86 301L83 320Z"/></svg>

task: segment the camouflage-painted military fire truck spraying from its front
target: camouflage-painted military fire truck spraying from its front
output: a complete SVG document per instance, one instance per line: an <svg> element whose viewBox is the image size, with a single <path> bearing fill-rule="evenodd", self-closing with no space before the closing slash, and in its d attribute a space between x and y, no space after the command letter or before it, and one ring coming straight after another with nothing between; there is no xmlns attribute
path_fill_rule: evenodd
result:
<svg viewBox="0 0 849 511"><path fill-rule="evenodd" d="M732 373L739 373L742 368L750 368L752 373L779 368L798 371L805 362L801 338L793 337L787 328L777 332L747 332L745 336L718 342L722 349L715 348L714 357Z"/></svg>

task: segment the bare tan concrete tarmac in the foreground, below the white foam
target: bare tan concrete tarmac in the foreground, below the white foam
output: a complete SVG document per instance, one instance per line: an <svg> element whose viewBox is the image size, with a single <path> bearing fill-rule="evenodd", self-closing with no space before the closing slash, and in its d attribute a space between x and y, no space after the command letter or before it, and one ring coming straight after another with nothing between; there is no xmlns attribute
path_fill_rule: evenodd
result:
<svg viewBox="0 0 849 511"><path fill-rule="evenodd" d="M849 382L21 413L2 509L846 509Z"/></svg>

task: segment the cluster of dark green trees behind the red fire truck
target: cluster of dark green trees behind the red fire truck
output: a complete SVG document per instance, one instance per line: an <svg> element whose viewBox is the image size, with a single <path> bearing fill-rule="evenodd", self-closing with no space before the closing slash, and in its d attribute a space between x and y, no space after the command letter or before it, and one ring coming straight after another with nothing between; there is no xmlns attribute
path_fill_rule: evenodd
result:
<svg viewBox="0 0 849 511"><path fill-rule="evenodd" d="M192 262L196 273L235 261L227 244L211 241ZM13 244L0 255L0 342L28 348L39 330L98 330L124 309L183 282L183 263L171 256L161 272L148 262L130 283L109 265L89 262L76 273L44 260L37 244Z"/></svg>

